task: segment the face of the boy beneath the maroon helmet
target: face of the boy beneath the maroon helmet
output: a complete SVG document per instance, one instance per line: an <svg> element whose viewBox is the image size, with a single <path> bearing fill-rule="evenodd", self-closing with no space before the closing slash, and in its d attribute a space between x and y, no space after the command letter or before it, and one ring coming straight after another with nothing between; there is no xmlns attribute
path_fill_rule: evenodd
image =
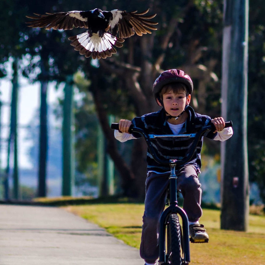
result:
<svg viewBox="0 0 265 265"><path fill-rule="evenodd" d="M178 116L185 109L185 106L190 104L191 95L186 95L185 90L178 89L173 92L172 89L169 89L165 94L162 95L164 109L171 116ZM162 106L160 102L158 105Z"/></svg>

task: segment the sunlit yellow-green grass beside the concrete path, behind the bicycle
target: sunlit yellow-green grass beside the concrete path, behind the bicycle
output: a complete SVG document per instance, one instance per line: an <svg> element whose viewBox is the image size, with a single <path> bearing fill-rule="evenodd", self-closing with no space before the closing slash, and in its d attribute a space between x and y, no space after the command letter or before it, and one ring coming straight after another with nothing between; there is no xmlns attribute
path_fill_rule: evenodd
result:
<svg viewBox="0 0 265 265"><path fill-rule="evenodd" d="M139 249L144 204L91 204L64 208ZM205 225L210 240L208 244L190 244L190 264L265 265L265 216L250 215L247 232L220 230L219 210L204 209L200 222Z"/></svg>

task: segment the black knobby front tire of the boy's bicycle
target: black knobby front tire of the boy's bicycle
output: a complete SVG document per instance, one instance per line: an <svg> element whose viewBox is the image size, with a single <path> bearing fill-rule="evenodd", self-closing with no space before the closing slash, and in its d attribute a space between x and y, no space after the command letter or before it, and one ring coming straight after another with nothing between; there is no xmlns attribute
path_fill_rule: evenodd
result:
<svg viewBox="0 0 265 265"><path fill-rule="evenodd" d="M167 223L167 261L170 265L181 265L181 231L179 216L170 214Z"/></svg>

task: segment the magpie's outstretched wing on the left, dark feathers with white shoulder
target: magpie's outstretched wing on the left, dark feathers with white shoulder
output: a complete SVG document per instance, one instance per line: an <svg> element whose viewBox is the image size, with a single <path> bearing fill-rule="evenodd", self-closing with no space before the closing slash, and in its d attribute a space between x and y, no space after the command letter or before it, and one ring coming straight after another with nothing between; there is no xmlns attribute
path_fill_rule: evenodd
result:
<svg viewBox="0 0 265 265"><path fill-rule="evenodd" d="M90 11L69 11L58 13L36 14L36 16L26 16L33 19L26 22L28 27L45 28L46 30L72 30L75 28L88 28L87 18Z"/></svg>

